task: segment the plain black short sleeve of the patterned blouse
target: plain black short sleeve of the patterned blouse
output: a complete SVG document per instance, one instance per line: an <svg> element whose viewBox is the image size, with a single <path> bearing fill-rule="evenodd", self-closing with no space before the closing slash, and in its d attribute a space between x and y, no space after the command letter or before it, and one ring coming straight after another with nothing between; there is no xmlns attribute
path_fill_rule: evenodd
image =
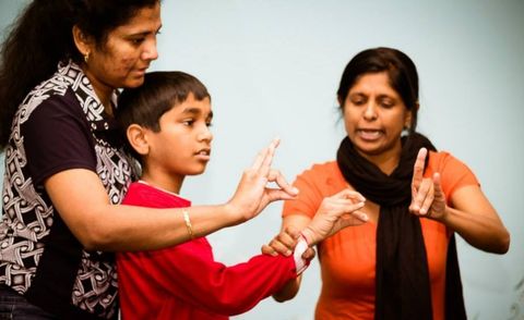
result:
<svg viewBox="0 0 524 320"><path fill-rule="evenodd" d="M72 91L51 96L21 126L27 168L35 186L60 171L96 171L96 155L85 115Z"/></svg>

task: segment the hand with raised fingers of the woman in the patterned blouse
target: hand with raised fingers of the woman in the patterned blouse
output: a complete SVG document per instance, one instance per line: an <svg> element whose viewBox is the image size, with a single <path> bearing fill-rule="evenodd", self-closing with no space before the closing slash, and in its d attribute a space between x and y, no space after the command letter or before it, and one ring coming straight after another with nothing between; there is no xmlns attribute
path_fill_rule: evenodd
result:
<svg viewBox="0 0 524 320"><path fill-rule="evenodd" d="M293 199L298 194L279 171L271 168L278 144L279 139L274 139L259 152L253 164L243 171L237 190L227 204L243 221L257 217L269 204ZM275 183L276 187L267 187L267 183Z"/></svg>

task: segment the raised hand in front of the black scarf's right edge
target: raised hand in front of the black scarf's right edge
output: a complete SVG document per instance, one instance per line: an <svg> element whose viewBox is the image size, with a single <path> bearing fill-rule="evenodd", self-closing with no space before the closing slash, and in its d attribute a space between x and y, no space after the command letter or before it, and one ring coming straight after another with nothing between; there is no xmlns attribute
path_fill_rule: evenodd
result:
<svg viewBox="0 0 524 320"><path fill-rule="evenodd" d="M445 197L440 184L440 174L434 173L431 179L424 177L424 163L428 150L421 148L413 169L412 204L409 212L415 216L442 220L445 218Z"/></svg>

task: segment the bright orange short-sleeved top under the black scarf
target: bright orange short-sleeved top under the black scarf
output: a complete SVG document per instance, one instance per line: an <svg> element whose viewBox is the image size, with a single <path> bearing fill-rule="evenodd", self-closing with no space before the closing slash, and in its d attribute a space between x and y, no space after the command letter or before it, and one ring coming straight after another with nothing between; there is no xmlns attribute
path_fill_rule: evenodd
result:
<svg viewBox="0 0 524 320"><path fill-rule="evenodd" d="M478 185L473 172L446 152L430 152L425 176L441 174L446 201L457 188ZM314 164L295 181L298 199L284 204L283 216L313 217L324 197L347 186L336 161ZM444 319L445 257L450 232L445 225L421 219L431 282L433 319ZM373 319L377 224L349 226L319 245L322 291L315 319Z"/></svg>

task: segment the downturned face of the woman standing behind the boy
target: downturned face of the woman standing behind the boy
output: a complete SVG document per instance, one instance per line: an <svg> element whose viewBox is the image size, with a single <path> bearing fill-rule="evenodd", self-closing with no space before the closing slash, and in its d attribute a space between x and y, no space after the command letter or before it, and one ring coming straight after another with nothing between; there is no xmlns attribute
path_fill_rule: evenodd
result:
<svg viewBox="0 0 524 320"><path fill-rule="evenodd" d="M162 26L160 4L143 8L127 24L111 30L102 48L90 44L84 72L97 94L138 87L153 60L158 58L156 35Z"/></svg>

